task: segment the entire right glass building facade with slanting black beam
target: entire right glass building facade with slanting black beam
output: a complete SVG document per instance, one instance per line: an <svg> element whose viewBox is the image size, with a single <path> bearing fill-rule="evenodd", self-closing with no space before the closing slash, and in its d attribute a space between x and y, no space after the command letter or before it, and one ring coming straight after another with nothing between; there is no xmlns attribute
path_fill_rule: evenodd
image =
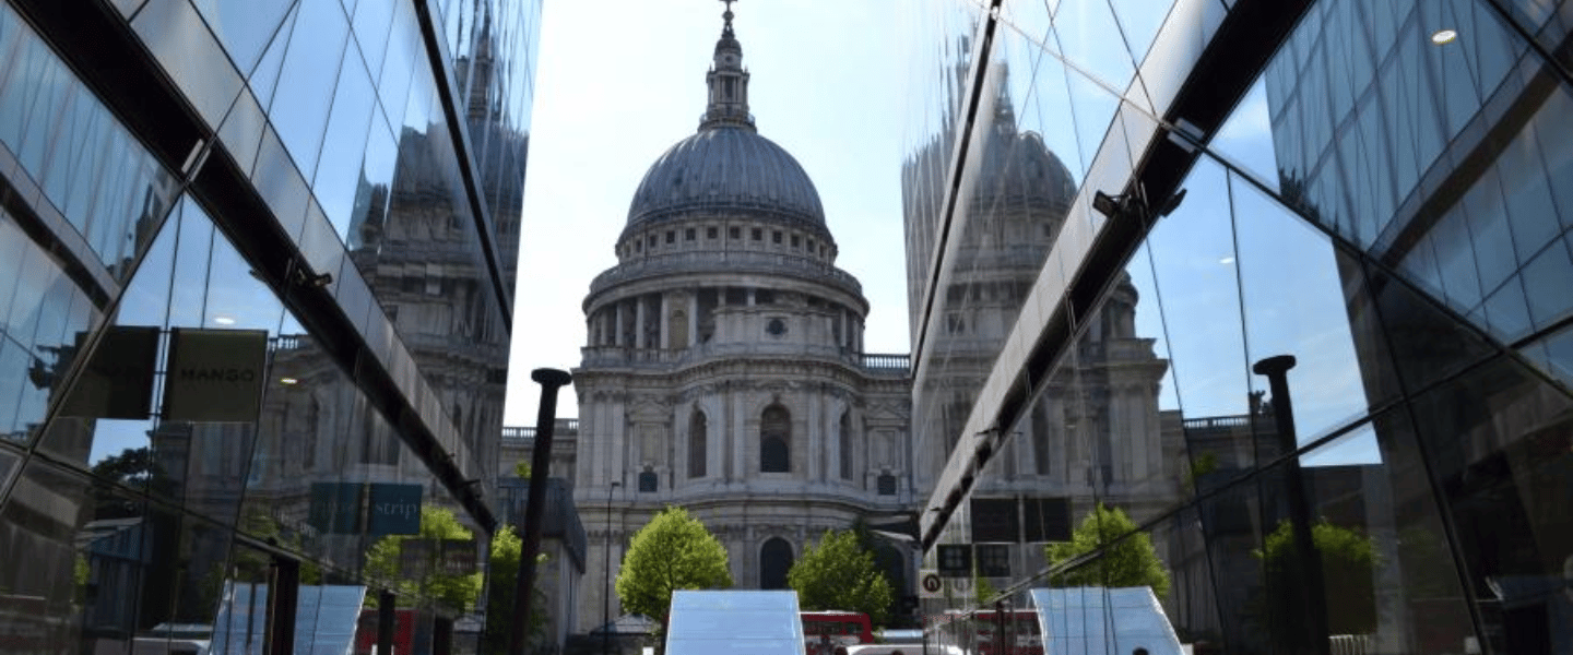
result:
<svg viewBox="0 0 1573 655"><path fill-rule="evenodd" d="M908 20L930 647L1573 652L1573 3Z"/></svg>

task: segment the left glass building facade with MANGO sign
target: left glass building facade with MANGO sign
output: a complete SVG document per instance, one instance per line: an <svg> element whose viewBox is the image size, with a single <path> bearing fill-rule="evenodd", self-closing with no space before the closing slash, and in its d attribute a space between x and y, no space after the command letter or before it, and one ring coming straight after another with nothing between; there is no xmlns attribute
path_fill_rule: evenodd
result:
<svg viewBox="0 0 1573 655"><path fill-rule="evenodd" d="M0 3L0 652L475 649L538 20Z"/></svg>

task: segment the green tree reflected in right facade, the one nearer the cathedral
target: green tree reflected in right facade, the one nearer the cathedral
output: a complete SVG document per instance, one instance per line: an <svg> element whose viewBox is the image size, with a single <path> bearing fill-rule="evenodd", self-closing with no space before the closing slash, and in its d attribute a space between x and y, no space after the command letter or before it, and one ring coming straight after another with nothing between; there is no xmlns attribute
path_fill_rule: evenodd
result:
<svg viewBox="0 0 1573 655"><path fill-rule="evenodd" d="M1043 554L1052 567L1098 548L1104 550L1095 562L1059 576L1059 584L1089 587L1145 586L1151 587L1153 594L1159 598L1169 594L1169 570L1158 559L1151 537L1147 532L1137 532L1136 521L1120 507L1109 507L1098 503L1071 532L1071 540L1049 543L1043 548Z"/></svg>

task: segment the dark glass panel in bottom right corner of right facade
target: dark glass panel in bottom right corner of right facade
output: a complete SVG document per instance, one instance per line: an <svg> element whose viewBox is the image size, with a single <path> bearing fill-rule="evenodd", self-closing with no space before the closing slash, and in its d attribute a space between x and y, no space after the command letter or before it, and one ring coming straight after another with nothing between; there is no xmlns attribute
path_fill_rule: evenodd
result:
<svg viewBox="0 0 1573 655"><path fill-rule="evenodd" d="M1573 401L1515 360L1497 360L1416 402L1424 452L1447 503L1494 652L1570 644L1565 587L1573 531Z"/></svg>

